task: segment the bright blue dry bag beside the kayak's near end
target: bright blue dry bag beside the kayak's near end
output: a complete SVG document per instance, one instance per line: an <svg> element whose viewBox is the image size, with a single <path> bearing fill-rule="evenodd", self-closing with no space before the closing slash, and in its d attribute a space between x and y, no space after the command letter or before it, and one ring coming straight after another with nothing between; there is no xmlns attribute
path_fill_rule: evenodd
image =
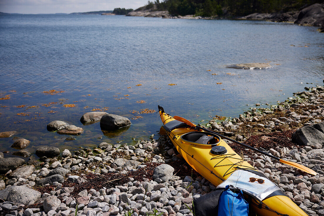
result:
<svg viewBox="0 0 324 216"><path fill-rule="evenodd" d="M249 203L245 201L242 191L235 193L227 185L218 202L218 216L248 216Z"/></svg>

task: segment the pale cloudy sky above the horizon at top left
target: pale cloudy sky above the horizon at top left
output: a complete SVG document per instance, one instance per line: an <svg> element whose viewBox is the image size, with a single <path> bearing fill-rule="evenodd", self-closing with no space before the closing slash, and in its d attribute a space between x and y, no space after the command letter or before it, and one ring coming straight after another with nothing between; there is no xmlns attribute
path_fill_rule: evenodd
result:
<svg viewBox="0 0 324 216"><path fill-rule="evenodd" d="M73 13L139 8L147 0L0 0L0 12L20 14Z"/></svg>

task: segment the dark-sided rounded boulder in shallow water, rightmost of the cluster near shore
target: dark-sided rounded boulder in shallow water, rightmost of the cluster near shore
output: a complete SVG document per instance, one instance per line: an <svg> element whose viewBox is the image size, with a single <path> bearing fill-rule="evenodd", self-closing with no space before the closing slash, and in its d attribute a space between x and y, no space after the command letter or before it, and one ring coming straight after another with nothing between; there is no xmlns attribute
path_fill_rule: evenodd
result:
<svg viewBox="0 0 324 216"><path fill-rule="evenodd" d="M105 114L100 119L100 128L104 131L113 131L131 125L131 121L126 117Z"/></svg>

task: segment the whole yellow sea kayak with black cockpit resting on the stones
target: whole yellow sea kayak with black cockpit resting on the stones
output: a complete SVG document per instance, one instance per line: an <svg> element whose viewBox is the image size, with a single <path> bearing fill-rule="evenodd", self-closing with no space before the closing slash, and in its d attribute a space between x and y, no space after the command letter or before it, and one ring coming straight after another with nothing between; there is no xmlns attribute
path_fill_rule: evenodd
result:
<svg viewBox="0 0 324 216"><path fill-rule="evenodd" d="M264 174L243 160L219 136L191 128L159 108L168 137L193 169L215 186L233 185L245 194L259 216L307 216L286 194ZM262 184L250 178L262 179Z"/></svg>

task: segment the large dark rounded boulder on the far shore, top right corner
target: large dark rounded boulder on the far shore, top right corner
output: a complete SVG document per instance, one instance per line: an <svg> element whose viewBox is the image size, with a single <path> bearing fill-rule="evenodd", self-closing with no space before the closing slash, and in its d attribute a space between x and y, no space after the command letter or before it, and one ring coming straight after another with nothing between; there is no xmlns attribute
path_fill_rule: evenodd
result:
<svg viewBox="0 0 324 216"><path fill-rule="evenodd" d="M313 4L302 9L295 23L298 25L324 26L324 4Z"/></svg>

